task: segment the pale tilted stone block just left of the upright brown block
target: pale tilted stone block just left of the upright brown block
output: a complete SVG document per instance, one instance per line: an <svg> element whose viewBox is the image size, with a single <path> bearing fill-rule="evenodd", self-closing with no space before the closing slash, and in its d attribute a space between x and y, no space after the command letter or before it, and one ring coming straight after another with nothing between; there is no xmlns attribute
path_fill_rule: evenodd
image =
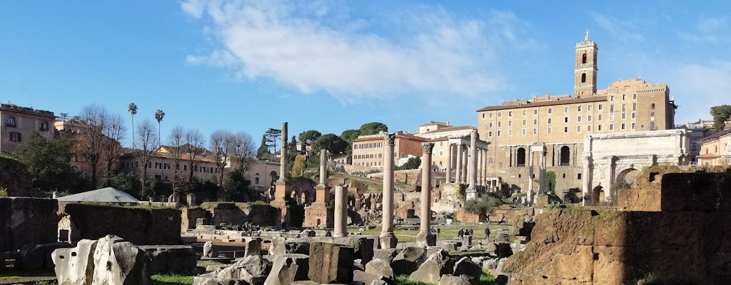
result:
<svg viewBox="0 0 731 285"><path fill-rule="evenodd" d="M309 271L309 257L305 254L284 254L274 257L265 285L287 285L306 280Z"/></svg>

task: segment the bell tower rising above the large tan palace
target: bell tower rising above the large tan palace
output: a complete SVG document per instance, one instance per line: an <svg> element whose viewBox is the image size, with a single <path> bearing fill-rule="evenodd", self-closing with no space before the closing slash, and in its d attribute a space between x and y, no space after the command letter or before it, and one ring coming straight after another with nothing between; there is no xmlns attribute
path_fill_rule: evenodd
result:
<svg viewBox="0 0 731 285"><path fill-rule="evenodd" d="M596 94L596 52L599 48L589 39L586 31L584 40L576 44L576 66L574 67L574 97L581 98Z"/></svg>

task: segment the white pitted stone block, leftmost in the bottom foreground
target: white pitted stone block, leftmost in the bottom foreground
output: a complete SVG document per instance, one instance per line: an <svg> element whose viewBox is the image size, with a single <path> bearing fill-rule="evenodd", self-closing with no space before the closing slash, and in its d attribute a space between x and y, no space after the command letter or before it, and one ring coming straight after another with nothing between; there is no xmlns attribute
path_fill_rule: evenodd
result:
<svg viewBox="0 0 731 285"><path fill-rule="evenodd" d="M96 242L81 240L75 248L56 249L51 254L59 285L91 284Z"/></svg>

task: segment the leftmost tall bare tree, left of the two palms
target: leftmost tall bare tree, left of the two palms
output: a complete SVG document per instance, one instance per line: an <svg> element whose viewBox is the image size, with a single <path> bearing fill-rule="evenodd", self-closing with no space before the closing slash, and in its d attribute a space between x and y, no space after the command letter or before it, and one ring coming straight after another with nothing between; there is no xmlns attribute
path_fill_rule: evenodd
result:
<svg viewBox="0 0 731 285"><path fill-rule="evenodd" d="M104 107L91 104L83 107L80 116L83 122L80 150L91 168L91 184L96 187L96 172L99 160L102 159L102 141L109 114Z"/></svg>

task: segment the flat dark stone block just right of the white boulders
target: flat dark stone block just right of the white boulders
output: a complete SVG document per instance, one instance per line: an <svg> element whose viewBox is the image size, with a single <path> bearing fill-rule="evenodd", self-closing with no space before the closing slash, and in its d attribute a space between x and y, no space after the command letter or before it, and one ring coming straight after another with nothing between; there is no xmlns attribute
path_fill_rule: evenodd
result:
<svg viewBox="0 0 731 285"><path fill-rule="evenodd" d="M192 246L138 246L149 257L150 273L191 273L198 260Z"/></svg>

